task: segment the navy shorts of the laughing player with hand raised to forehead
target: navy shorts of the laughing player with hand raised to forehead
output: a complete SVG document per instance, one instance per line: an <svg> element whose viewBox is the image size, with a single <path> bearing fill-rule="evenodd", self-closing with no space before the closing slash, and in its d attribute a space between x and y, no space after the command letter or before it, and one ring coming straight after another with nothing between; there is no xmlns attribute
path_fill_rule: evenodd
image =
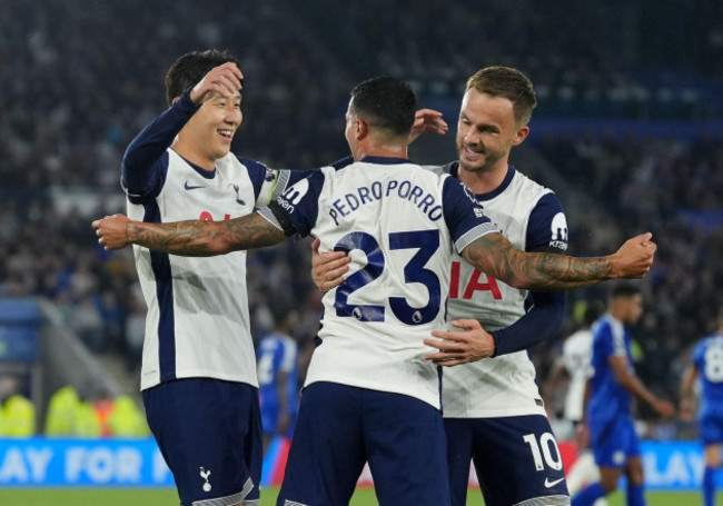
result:
<svg viewBox="0 0 723 506"><path fill-rule="evenodd" d="M257 388L177 379L143 390L143 405L181 505L258 504L264 452Z"/></svg>

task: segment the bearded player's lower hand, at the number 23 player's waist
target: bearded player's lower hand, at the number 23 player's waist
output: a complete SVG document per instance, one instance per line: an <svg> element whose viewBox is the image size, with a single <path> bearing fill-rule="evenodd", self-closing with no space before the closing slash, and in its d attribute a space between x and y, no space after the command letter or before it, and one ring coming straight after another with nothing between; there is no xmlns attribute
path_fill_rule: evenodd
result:
<svg viewBox="0 0 723 506"><path fill-rule="evenodd" d="M495 340L479 321L473 319L454 320L453 327L465 329L462 333L434 330L432 335L439 339L425 339L424 344L437 348L439 351L425 355L425 360L430 360L438 366L457 366L491 357L495 353Z"/></svg>

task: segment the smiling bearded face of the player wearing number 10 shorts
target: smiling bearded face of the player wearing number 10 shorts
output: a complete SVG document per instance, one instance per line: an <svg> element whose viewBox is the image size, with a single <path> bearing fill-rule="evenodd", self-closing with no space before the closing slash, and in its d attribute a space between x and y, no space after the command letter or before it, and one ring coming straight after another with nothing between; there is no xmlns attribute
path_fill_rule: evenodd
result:
<svg viewBox="0 0 723 506"><path fill-rule="evenodd" d="M513 146L521 143L529 128L518 126L512 101L471 88L462 100L457 123L457 151L463 170L507 170Z"/></svg>

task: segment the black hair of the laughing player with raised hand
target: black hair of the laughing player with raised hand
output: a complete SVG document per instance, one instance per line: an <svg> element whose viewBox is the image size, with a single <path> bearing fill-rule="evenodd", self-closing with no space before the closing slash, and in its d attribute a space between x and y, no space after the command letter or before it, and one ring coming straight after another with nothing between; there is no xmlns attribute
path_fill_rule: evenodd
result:
<svg viewBox="0 0 723 506"><path fill-rule="evenodd" d="M239 68L241 67L238 59L225 49L192 51L179 57L166 73L166 99L168 105L170 106L175 98L184 95L184 91L196 86L214 67L229 61L236 63Z"/></svg>

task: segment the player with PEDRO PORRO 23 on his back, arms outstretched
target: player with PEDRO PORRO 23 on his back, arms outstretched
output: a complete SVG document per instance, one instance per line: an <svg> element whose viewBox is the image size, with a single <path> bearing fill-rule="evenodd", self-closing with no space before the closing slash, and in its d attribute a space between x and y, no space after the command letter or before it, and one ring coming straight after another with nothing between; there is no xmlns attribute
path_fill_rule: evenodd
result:
<svg viewBox="0 0 723 506"><path fill-rule="evenodd" d="M358 85L345 131L355 163L323 168L251 216L142 224L117 215L93 222L107 249L135 242L206 256L298 232L317 236L321 250L354 257L353 275L324 298L280 505L346 504L366 460L382 505L448 504L439 376L424 360L430 348L423 340L444 325L453 247L517 288L574 288L650 270L650 234L602 258L516 249L463 183L406 160L415 105L397 79Z"/></svg>

